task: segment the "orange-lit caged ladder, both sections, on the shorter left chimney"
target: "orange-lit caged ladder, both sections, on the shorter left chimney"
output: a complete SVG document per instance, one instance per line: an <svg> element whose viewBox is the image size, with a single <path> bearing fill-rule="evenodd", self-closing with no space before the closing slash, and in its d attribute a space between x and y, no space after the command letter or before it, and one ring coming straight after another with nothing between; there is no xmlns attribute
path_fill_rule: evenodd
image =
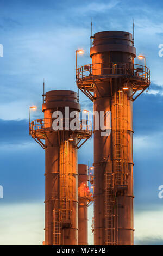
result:
<svg viewBox="0 0 163 256"><path fill-rule="evenodd" d="M61 142L59 161L60 204L53 209L53 245L64 243L64 228L72 224L73 146L69 141Z"/></svg>

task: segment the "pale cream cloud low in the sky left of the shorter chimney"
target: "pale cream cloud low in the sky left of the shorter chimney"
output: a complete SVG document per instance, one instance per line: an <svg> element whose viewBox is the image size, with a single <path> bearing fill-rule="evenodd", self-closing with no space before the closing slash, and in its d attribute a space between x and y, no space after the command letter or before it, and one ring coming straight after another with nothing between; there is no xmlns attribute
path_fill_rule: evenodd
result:
<svg viewBox="0 0 163 256"><path fill-rule="evenodd" d="M43 202L2 204L0 219L1 245L42 244L44 240Z"/></svg>

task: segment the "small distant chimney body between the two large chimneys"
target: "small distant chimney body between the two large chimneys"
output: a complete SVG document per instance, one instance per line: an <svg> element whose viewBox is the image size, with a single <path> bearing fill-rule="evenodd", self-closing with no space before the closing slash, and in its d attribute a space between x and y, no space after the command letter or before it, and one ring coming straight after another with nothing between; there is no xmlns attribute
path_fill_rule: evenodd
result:
<svg viewBox="0 0 163 256"><path fill-rule="evenodd" d="M78 245L88 245L88 169L78 164Z"/></svg>

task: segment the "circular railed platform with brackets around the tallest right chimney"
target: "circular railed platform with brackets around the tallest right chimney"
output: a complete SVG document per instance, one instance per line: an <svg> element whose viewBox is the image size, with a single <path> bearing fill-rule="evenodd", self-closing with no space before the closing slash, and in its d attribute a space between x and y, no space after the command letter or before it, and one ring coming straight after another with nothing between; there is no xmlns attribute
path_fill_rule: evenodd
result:
<svg viewBox="0 0 163 256"><path fill-rule="evenodd" d="M81 89L93 92L94 83L109 79L123 79L132 84L133 91L150 84L150 70L146 66L131 63L96 63L77 69L76 83Z"/></svg>

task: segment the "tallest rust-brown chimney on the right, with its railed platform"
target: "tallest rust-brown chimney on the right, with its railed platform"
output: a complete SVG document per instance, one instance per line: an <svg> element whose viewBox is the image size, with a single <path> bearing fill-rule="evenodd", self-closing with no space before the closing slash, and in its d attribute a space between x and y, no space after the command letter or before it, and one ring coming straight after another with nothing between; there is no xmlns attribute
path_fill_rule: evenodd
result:
<svg viewBox="0 0 163 256"><path fill-rule="evenodd" d="M76 83L94 111L111 112L111 135L94 131L94 241L133 245L133 102L149 87L149 69L134 64L130 33L104 31L91 38L92 64L77 69Z"/></svg>

